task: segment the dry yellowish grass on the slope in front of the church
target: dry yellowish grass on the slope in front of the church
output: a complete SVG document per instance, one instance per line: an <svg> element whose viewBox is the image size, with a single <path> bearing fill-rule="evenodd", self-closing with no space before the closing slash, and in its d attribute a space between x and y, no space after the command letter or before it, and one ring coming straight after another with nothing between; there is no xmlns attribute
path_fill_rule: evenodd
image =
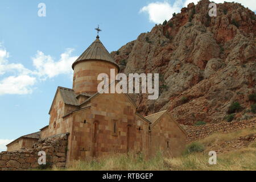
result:
<svg viewBox="0 0 256 182"><path fill-rule="evenodd" d="M78 171L101 171L101 170L256 170L256 142L246 148L237 151L226 152L217 155L217 165L208 163L207 149L218 146L219 143L229 141L238 137L255 134L256 129L245 129L229 134L213 134L199 143L206 148L204 152L184 154L177 158L166 158L161 152L155 158L144 160L142 155L115 155L100 158L93 161L76 161L65 170ZM59 170L53 167L53 170Z"/></svg>

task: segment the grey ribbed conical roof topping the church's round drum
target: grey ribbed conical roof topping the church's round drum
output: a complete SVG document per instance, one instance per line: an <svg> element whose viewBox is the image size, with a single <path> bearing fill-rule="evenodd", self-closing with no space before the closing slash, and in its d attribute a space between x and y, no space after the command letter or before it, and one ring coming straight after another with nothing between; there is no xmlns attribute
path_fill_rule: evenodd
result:
<svg viewBox="0 0 256 182"><path fill-rule="evenodd" d="M75 65L81 61L86 60L101 60L108 61L117 65L113 57L110 55L108 50L101 43L100 38L97 36L96 40L82 53L82 55L73 63L72 68L74 69ZM119 67L118 67L119 70Z"/></svg>

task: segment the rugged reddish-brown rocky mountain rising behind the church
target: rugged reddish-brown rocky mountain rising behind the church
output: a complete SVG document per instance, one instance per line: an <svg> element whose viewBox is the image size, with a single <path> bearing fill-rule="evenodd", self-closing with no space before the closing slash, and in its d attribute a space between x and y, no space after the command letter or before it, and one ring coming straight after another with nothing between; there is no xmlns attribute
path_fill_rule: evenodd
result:
<svg viewBox="0 0 256 182"><path fill-rule="evenodd" d="M210 17L209 3L190 3L111 53L123 73L160 74L158 100L132 96L142 115L168 109L184 125L255 117L255 14L225 2ZM230 112L234 102L241 107Z"/></svg>

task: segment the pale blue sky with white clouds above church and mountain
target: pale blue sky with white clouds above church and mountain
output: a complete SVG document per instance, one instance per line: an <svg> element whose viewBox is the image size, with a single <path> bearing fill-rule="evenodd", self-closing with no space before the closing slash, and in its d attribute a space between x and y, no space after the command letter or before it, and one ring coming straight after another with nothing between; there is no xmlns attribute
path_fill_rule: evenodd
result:
<svg viewBox="0 0 256 182"><path fill-rule="evenodd" d="M96 39L94 28L99 25L102 29L100 39L108 51L116 51L173 13L180 13L189 2L197 3L1 0L0 151L12 140L48 125L56 88L72 88L71 65ZM256 10L254 0L235 2Z"/></svg>

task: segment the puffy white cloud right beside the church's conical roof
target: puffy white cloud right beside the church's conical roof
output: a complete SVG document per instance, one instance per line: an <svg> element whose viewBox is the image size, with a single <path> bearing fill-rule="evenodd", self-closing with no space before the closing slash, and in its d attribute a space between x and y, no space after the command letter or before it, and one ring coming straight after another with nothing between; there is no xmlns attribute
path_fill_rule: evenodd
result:
<svg viewBox="0 0 256 182"><path fill-rule="evenodd" d="M60 55L59 61L54 61L51 56L44 55L38 51L35 57L32 58L36 68L36 74L40 77L55 77L60 74L72 74L71 65L75 62L78 56L71 56L73 49L68 48Z"/></svg>

